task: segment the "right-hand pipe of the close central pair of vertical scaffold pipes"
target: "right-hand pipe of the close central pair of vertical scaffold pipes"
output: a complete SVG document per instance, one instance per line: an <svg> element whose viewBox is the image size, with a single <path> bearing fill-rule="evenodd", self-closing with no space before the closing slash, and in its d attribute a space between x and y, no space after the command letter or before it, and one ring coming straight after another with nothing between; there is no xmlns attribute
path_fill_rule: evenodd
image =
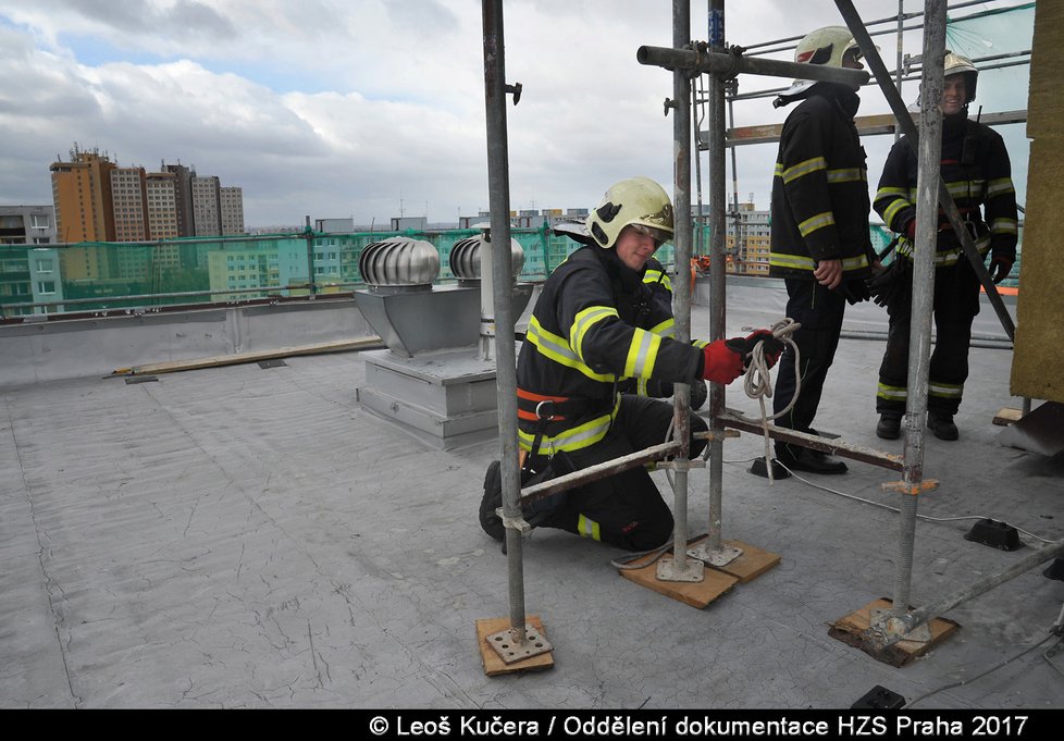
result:
<svg viewBox="0 0 1064 741"><path fill-rule="evenodd" d="M709 0L709 51L725 50L725 0ZM725 81L709 75L708 95L708 171L709 171L709 341L725 336L725 208L728 202L725 183ZM706 551L720 549L723 501L723 424L725 387L709 384L709 524Z"/></svg>

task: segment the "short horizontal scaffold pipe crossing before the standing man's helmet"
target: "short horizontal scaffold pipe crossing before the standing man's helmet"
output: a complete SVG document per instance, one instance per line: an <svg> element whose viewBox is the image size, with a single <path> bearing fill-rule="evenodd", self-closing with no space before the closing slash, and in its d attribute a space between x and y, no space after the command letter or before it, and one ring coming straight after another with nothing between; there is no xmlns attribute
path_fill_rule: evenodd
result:
<svg viewBox="0 0 1064 741"><path fill-rule="evenodd" d="M843 85L864 85L870 79L863 70L824 66L822 64L800 64L778 59L754 59L742 54L718 53L715 51L692 51L668 47L640 47L635 52L640 64L661 66L666 70L690 70L692 72L718 72L728 75L751 74L766 77L797 77L822 83Z"/></svg>

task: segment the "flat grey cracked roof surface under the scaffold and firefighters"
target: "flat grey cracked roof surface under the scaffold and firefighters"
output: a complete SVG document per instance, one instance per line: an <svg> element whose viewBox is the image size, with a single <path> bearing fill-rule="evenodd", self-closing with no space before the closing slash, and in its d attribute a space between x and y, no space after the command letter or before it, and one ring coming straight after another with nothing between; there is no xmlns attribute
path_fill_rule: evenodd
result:
<svg viewBox="0 0 1064 741"><path fill-rule="evenodd" d="M781 307L730 292L728 328ZM857 309L857 335L866 312L881 326ZM842 339L816 424L900 454L875 436L882 349ZM1011 361L974 347L961 440L926 436L940 486L918 499L935 519L916 527L914 606L1064 538L1064 461L1002 446L991 422L1020 407ZM1048 564L949 610L960 631L904 667L829 637L893 594L902 495L882 484L901 476L851 462L770 486L746 472L764 449L746 433L725 444L723 534L776 568L696 609L621 578L615 548L536 530L525 609L554 667L488 677L475 621L509 615L506 558L477 520L497 443L434 449L360 408L363 382L363 357L342 353L0 393L0 706L840 708L878 684L910 702L950 687L917 708L1064 707L1064 657L1043 657L1064 596ZM738 384L728 405L757 409ZM691 474L692 533L708 477ZM1026 547L965 540L978 518Z"/></svg>

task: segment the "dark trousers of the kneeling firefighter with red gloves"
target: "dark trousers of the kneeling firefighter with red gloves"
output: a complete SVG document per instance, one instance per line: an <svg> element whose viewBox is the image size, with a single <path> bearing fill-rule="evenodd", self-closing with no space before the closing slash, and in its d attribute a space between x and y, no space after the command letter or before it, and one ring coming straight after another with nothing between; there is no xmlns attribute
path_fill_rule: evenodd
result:
<svg viewBox="0 0 1064 741"><path fill-rule="evenodd" d="M624 394L609 432L598 443L567 453L576 469L620 458L665 442L672 422L672 405ZM708 429L691 416L692 435ZM691 440L691 457L706 441ZM559 528L627 551L655 548L672 538L672 511L661 498L646 468L639 466L568 492L559 508L540 527Z"/></svg>

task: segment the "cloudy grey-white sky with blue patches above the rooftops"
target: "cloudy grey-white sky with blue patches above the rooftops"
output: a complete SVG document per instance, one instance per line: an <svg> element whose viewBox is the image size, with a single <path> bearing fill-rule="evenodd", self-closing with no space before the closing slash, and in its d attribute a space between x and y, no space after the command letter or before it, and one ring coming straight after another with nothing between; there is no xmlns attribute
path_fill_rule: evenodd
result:
<svg viewBox="0 0 1064 741"><path fill-rule="evenodd" d="M691 4L692 35L705 39L707 4ZM855 4L865 21L898 12L898 0ZM831 0L730 0L726 11L728 42L741 46L842 23ZM951 45L1028 49L1031 17L1010 14L1007 33L954 33ZM506 0L504 18L506 81L523 85L507 108L511 208L593 207L632 174L671 192L672 77L635 61L642 45L671 46L671 3ZM877 42L893 69L895 37ZM920 45L905 35L907 53ZM983 73L985 110L1026 108L1026 71ZM744 77L741 90L784 83ZM915 84L903 95L915 99ZM862 114L889 110L875 88L862 100ZM738 102L735 124L789 110ZM484 122L480 0L0 0L2 205L51 203L48 165L76 141L124 166L180 161L242 186L249 227L305 215L456 222L488 208ZM1023 202L1024 127L1000 131ZM865 139L871 187L892 143ZM738 153L740 199L767 208L775 145Z"/></svg>

